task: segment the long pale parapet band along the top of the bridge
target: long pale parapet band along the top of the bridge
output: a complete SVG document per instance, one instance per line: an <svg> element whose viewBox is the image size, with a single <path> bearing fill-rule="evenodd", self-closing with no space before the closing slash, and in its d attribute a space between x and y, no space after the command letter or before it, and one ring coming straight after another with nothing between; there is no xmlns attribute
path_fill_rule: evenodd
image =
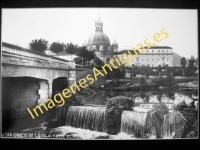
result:
<svg viewBox="0 0 200 150"><path fill-rule="evenodd" d="M75 68L74 61L49 56L5 42L2 42L2 64L63 69Z"/></svg>

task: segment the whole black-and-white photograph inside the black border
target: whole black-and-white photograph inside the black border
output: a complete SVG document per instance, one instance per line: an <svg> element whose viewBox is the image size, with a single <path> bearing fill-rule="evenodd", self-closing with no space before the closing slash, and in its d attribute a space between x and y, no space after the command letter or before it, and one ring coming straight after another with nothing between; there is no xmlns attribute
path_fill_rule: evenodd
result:
<svg viewBox="0 0 200 150"><path fill-rule="evenodd" d="M1 138L199 138L197 9L1 12Z"/></svg>

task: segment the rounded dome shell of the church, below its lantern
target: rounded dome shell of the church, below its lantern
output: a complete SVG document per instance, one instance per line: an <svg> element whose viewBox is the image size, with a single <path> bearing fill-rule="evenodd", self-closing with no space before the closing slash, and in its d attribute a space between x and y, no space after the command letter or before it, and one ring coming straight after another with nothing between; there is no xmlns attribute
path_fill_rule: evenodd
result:
<svg viewBox="0 0 200 150"><path fill-rule="evenodd" d="M110 45L110 39L103 32L95 32L93 33L89 40L88 44L90 45Z"/></svg>

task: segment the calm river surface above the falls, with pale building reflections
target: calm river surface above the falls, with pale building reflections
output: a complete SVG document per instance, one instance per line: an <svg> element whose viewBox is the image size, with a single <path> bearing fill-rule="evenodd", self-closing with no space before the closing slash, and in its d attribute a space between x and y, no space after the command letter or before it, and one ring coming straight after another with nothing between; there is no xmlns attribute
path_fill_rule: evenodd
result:
<svg viewBox="0 0 200 150"><path fill-rule="evenodd" d="M112 92L113 93L113 92ZM190 104L193 99L192 97L198 96L197 90L145 90L145 91L127 91L127 92L116 92L116 95L123 95L127 97L134 98L136 101L141 101L144 103L149 102L172 102L178 104L181 101L185 101L186 104ZM86 103L95 105L106 105L106 99L110 98L108 94L96 94ZM114 96L113 96L114 97Z"/></svg>

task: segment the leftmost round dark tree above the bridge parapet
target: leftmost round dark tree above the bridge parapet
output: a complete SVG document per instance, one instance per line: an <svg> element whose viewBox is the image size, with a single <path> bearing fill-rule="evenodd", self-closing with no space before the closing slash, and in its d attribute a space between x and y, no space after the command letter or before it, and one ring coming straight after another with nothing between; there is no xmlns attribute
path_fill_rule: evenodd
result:
<svg viewBox="0 0 200 150"><path fill-rule="evenodd" d="M29 46L31 50L44 53L48 47L48 41L44 39L39 39L39 40L35 39L32 40L31 43L29 43Z"/></svg>

